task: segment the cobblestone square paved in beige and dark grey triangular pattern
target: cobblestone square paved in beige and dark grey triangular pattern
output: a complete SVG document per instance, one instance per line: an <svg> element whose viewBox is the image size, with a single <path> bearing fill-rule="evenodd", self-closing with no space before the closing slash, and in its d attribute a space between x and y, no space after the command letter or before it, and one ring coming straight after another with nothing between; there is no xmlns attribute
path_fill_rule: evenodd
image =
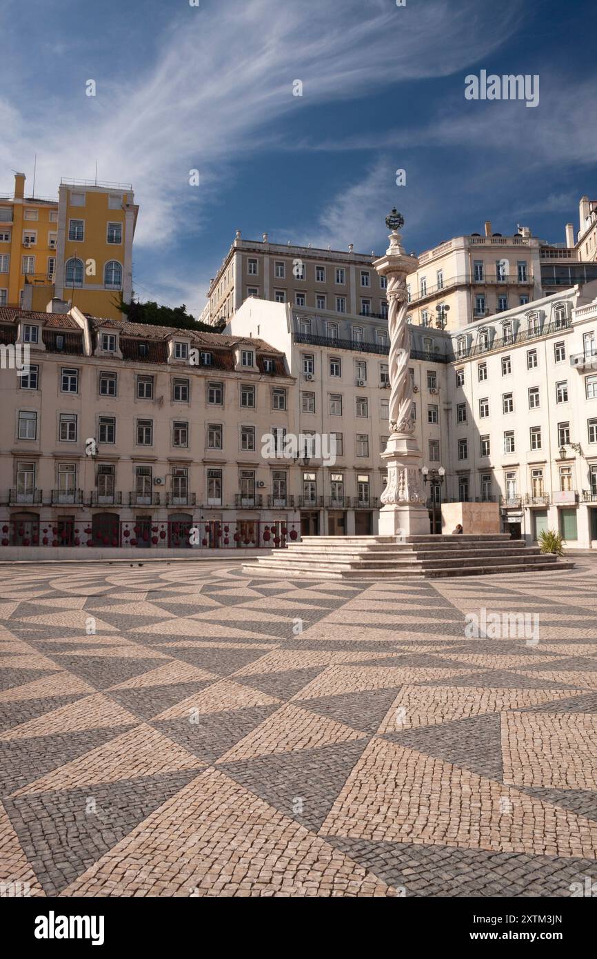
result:
<svg viewBox="0 0 597 959"><path fill-rule="evenodd" d="M577 562L404 583L4 568L0 880L181 897L597 881L597 566Z"/></svg>

